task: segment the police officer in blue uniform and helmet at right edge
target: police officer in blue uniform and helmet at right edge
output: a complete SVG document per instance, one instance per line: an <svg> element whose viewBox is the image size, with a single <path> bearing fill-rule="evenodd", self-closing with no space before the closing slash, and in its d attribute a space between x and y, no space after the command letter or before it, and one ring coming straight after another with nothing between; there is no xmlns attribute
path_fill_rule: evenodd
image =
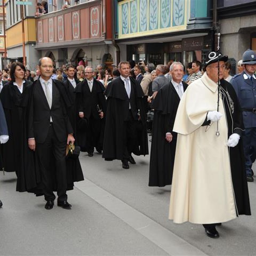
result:
<svg viewBox="0 0 256 256"><path fill-rule="evenodd" d="M243 144L247 181L253 181L252 163L256 155L256 53L250 49L243 54L244 71L231 79L241 108L245 130Z"/></svg>

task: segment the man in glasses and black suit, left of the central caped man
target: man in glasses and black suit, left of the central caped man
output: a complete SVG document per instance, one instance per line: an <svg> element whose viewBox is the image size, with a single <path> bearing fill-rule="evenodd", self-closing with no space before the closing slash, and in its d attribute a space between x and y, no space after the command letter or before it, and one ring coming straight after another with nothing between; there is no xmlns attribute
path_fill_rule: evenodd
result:
<svg viewBox="0 0 256 256"><path fill-rule="evenodd" d="M79 118L86 118L87 128L77 131L78 145L88 156L93 156L94 147L101 153L103 144L103 117L105 111L105 87L93 78L93 68L84 70L85 79L76 87L76 101Z"/></svg>

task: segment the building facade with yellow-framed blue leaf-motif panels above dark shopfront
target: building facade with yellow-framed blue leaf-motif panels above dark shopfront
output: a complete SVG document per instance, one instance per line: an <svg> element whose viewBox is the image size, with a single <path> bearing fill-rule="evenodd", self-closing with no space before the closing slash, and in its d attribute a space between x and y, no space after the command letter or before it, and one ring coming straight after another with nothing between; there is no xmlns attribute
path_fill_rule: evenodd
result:
<svg viewBox="0 0 256 256"><path fill-rule="evenodd" d="M121 59L204 62L214 48L212 1L116 1L116 42Z"/></svg>

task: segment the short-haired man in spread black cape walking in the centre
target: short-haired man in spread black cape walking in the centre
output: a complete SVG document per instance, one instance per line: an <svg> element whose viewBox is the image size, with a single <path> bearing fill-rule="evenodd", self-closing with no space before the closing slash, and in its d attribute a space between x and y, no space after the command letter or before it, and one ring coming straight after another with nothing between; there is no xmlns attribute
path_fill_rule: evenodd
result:
<svg viewBox="0 0 256 256"><path fill-rule="evenodd" d="M102 157L107 161L119 159L123 168L129 169L128 162L135 164L132 153L148 154L144 93L130 77L129 62L120 62L118 68L121 76L109 83L105 92L107 119Z"/></svg>

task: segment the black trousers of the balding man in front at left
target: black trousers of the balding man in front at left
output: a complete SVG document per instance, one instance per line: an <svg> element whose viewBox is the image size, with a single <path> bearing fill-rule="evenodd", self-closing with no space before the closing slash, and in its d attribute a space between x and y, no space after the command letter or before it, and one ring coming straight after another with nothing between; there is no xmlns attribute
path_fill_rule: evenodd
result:
<svg viewBox="0 0 256 256"><path fill-rule="evenodd" d="M66 141L59 141L50 125L44 143L36 143L36 154L46 201L55 199L54 183L57 183L58 202L67 200ZM55 168L54 168L55 167ZM55 170L55 172L54 172Z"/></svg>

